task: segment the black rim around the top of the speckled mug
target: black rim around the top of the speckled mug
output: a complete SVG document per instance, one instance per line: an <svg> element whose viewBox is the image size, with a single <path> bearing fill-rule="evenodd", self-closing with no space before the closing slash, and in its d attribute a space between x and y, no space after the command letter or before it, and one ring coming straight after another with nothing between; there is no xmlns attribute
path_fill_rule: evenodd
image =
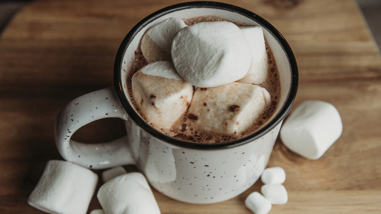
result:
<svg viewBox="0 0 381 214"><path fill-rule="evenodd" d="M183 141L180 139L169 137L168 135L165 135L156 129L152 128L149 124L147 124L146 121L144 121L138 113L134 110L134 108L131 106L131 104L128 102L128 99L124 93L123 90L123 84L125 80L122 79L122 64L123 64L123 58L125 55L125 51L130 43L130 41L136 36L136 34L144 28L149 22L157 19L158 17L164 16L168 13L183 10L183 9L189 9L189 8L216 8L216 9L224 9L232 12L239 13L240 15L246 16L249 19L252 19L256 22L259 22L262 24L262 26L266 27L269 32L275 37L275 39L278 41L278 43L281 44L283 47L285 53L288 56L288 60L290 63L292 75L291 75L291 88L288 93L288 97L286 99L285 104L280 109L280 111L275 115L275 118L273 118L271 121L269 121L264 127L260 128L258 131L249 134L245 137L233 140L233 141L226 141L223 143L213 143L213 144L201 144L201 143L193 143L188 141ZM121 45L119 46L118 52L116 54L115 58L115 64L114 64L114 85L116 89L116 93L119 97L119 100L122 104L122 106L125 108L129 118L131 118L138 126L145 129L149 134L152 136L165 141L169 144L183 147L183 148L189 148L189 149L198 149L198 150L217 150L217 149L227 149L232 148L236 146L240 146L249 142L252 142L264 134L268 133L271 129L273 129L278 123L280 123L287 113L290 111L296 97L296 91L298 86L298 70L297 70L297 64L296 59L294 56L293 51L291 50L290 45L286 42L284 37L278 32L278 30L275 29L275 27L270 24L268 21L264 20L257 14L246 10L244 8L222 3L222 2L215 2L215 1L191 1L191 2L184 2L184 3L178 3L174 4L168 7L165 7L163 9L160 9L150 15L148 15L146 18L144 18L142 21L139 21L126 35L124 40L122 41Z"/></svg>

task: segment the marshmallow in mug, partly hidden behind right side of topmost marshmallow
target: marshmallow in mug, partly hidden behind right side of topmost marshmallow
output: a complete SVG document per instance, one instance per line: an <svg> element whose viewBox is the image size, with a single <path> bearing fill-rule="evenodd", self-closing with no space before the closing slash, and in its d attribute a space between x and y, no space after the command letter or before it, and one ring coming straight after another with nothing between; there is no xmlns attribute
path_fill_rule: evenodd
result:
<svg viewBox="0 0 381 214"><path fill-rule="evenodd" d="M246 76L237 82L248 84L261 84L268 77L267 51L263 30L260 26L240 27L249 41L253 53L252 65Z"/></svg>

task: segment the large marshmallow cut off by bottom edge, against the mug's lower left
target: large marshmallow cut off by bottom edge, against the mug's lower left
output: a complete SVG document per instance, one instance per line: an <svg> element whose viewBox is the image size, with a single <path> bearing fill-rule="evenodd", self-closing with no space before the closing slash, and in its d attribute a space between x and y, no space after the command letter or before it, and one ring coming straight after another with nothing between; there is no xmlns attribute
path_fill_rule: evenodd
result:
<svg viewBox="0 0 381 214"><path fill-rule="evenodd" d="M160 214L147 180L139 172L108 181L101 186L97 197L106 214Z"/></svg>

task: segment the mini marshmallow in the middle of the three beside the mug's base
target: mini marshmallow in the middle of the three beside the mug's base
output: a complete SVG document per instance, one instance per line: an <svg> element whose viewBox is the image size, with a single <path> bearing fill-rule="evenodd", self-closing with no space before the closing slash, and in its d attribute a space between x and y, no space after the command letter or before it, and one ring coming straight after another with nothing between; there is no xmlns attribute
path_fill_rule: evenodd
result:
<svg viewBox="0 0 381 214"><path fill-rule="evenodd" d="M261 192L271 204L287 203L287 191L281 184L265 184L261 187Z"/></svg>

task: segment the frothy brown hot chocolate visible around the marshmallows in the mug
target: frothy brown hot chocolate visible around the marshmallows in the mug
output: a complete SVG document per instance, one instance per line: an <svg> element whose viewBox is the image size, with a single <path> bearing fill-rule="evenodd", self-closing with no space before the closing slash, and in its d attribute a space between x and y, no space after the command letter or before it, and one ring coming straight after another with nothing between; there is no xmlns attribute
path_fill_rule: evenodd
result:
<svg viewBox="0 0 381 214"><path fill-rule="evenodd" d="M203 17L195 17L192 19L184 20L187 25L192 25L201 21L226 21L219 17L215 16L203 16ZM235 23L238 26L244 26L243 24ZM265 38L266 39L266 38ZM132 92L131 79L133 74L139 71L143 66L147 65L147 61L144 58L142 51L140 50L140 45L138 49L135 51L135 57L133 59L133 66L131 71L127 77L127 88L129 96L131 97L132 104L134 105L137 112L141 115L141 117L151 125L152 128L170 136L173 138L177 138L184 141L200 143L200 144L212 144L212 143L222 143L227 141L232 141L249 134L255 132L258 128L262 127L271 116L274 114L276 107L278 106L278 100L280 96L280 82L278 79L278 69L276 66L276 62L272 53L272 50L266 43L266 52L268 56L268 79L262 84L258 84L258 86L266 88L266 90L270 93L271 102L266 106L265 110L260 114L260 116L253 121L253 124L244 131L239 133L234 133L231 135L215 133L213 131L200 131L192 127L191 119L192 114L189 114L188 110L185 111L184 115L180 117L171 128L159 128L154 124L151 124L139 111L139 107L135 103L135 99ZM195 87L194 87L195 88ZM207 88L205 88L207 89ZM234 109L233 109L234 110ZM232 111L232 108L227 109L227 111ZM201 115L202 116L202 115Z"/></svg>

